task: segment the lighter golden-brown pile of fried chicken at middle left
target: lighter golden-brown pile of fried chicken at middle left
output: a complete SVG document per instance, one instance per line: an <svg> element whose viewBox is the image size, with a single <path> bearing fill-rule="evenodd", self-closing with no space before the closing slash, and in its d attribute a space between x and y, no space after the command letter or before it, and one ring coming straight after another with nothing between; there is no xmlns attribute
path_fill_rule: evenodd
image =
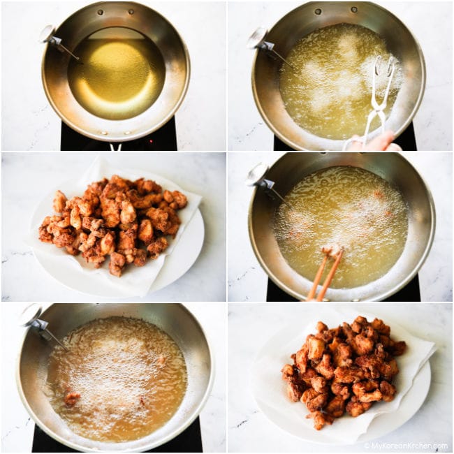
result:
<svg viewBox="0 0 454 454"><path fill-rule="evenodd" d="M82 253L87 263L100 268L110 256L110 274L120 277L128 263L143 266L168 247L181 221L177 210L186 207L180 191L163 191L152 180L131 182L118 175L89 184L82 197L67 199L55 193L54 216L45 217L39 239Z"/></svg>

